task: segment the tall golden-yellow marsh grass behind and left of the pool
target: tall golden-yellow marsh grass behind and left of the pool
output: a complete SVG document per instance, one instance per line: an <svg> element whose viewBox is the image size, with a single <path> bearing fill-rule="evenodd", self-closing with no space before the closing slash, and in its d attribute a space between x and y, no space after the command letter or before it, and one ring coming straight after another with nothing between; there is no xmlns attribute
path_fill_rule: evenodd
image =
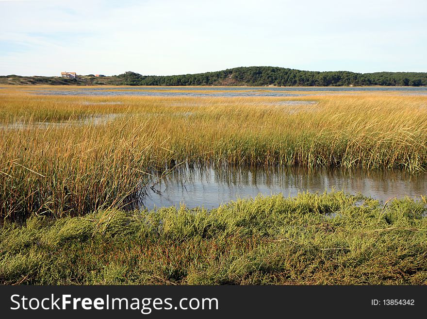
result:
<svg viewBox="0 0 427 319"><path fill-rule="evenodd" d="M426 96L63 97L23 92L29 88L0 92L3 218L75 216L120 207L147 173L185 160L427 168ZM272 105L281 101L317 104L315 112L312 105ZM123 116L100 125L75 125L75 120L103 114ZM39 121L69 125L31 125ZM16 122L27 124L5 129Z"/></svg>

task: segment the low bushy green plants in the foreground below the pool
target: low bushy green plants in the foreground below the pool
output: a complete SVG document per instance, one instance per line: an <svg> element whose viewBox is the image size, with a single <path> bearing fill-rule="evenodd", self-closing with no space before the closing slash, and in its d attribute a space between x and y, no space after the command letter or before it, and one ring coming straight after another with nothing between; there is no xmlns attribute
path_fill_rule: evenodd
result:
<svg viewBox="0 0 427 319"><path fill-rule="evenodd" d="M337 192L33 217L0 231L0 283L425 285L423 213Z"/></svg>

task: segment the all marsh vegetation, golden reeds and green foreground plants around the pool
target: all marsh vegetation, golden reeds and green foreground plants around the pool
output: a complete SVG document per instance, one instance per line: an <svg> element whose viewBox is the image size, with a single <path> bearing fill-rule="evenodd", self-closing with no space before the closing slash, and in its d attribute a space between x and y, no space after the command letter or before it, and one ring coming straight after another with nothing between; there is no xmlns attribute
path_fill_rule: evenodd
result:
<svg viewBox="0 0 427 319"><path fill-rule="evenodd" d="M424 173L426 96L90 97L40 88L52 90L1 89L1 284L427 283L425 197L132 206L154 173L181 165Z"/></svg>

